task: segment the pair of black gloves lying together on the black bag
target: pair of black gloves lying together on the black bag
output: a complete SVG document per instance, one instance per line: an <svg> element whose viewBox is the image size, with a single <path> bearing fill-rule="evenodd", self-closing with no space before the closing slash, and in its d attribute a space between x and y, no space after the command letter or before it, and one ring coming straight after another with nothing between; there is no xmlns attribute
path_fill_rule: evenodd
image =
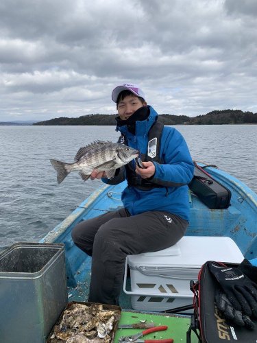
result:
<svg viewBox="0 0 257 343"><path fill-rule="evenodd" d="M208 268L220 286L215 292L218 309L235 324L253 328L249 317L257 318L257 285L239 267L228 268L208 262Z"/></svg>

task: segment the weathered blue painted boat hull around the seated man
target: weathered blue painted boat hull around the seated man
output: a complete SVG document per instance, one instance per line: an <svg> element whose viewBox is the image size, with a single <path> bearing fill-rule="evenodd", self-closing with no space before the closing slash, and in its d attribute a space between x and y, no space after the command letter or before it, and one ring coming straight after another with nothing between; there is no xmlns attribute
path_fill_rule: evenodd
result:
<svg viewBox="0 0 257 343"><path fill-rule="evenodd" d="M193 193L188 192L191 221L186 235L230 237L246 259L257 257L256 218L257 195L243 182L214 167L206 171L232 192L228 209L208 209ZM83 220L114 211L122 206L121 192L126 187L103 185L80 204L75 211L48 233L40 242L62 242L66 250L66 272L71 300L86 300L90 281L91 259L79 250L71 239L71 230ZM130 307L125 297L122 307Z"/></svg>

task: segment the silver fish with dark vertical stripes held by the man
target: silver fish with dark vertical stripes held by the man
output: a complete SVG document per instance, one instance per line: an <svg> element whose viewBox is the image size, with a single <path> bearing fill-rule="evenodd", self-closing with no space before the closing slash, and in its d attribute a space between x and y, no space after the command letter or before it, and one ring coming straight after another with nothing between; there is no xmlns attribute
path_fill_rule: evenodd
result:
<svg viewBox="0 0 257 343"><path fill-rule="evenodd" d="M95 141L77 152L74 163L51 159L57 171L57 182L61 183L71 171L79 171L82 180L90 178L93 169L105 171L107 178L113 178L116 169L138 157L138 150L120 143Z"/></svg>

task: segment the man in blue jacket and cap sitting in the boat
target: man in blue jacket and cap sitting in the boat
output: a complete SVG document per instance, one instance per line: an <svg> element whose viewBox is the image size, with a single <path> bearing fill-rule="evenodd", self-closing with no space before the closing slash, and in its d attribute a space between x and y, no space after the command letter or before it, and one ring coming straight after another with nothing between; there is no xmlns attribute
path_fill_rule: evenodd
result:
<svg viewBox="0 0 257 343"><path fill-rule="evenodd" d="M138 150L142 163L131 161L110 180L104 171L93 170L92 180L110 185L127 179L123 208L77 224L72 237L92 256L88 301L119 305L127 255L169 248L184 236L194 165L182 134L158 121L140 87L121 84L112 91L112 100L119 115L119 143Z"/></svg>

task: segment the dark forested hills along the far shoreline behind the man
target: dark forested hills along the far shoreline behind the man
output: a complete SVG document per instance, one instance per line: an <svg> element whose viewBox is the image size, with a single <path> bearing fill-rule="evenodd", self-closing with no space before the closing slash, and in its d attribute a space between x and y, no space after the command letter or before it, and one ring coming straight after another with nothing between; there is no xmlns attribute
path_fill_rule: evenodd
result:
<svg viewBox="0 0 257 343"><path fill-rule="evenodd" d="M33 125L111 125L116 126L117 115L84 115L79 118L60 117L39 121ZM212 125L212 124L249 124L257 123L257 113L241 110L213 110L206 115L187 117L186 115L159 115L164 125Z"/></svg>

